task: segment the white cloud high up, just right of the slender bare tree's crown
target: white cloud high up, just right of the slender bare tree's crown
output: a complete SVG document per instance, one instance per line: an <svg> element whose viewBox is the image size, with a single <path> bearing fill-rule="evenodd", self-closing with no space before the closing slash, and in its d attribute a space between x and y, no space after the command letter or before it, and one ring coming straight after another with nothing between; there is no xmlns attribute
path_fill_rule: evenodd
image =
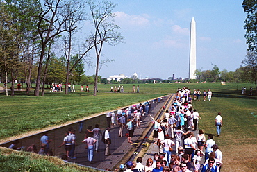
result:
<svg viewBox="0 0 257 172"><path fill-rule="evenodd" d="M114 12L115 22L121 25L128 26L147 26L149 22L149 15L128 15L125 12Z"/></svg>

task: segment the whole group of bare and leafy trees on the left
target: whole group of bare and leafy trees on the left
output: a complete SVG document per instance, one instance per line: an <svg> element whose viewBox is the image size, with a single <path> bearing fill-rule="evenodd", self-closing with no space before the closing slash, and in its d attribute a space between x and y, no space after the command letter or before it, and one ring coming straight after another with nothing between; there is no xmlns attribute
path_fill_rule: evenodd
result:
<svg viewBox="0 0 257 172"><path fill-rule="evenodd" d="M44 96L44 87L50 83L67 86L92 84L93 80L97 85L99 70L113 61L100 60L103 44L115 45L124 39L113 20L116 5L94 0L1 1L1 82L12 83L14 95L16 80L26 83L27 94L33 81L34 96L39 96L40 90ZM97 59L95 65L91 52ZM85 76L86 67L95 67L94 76Z"/></svg>

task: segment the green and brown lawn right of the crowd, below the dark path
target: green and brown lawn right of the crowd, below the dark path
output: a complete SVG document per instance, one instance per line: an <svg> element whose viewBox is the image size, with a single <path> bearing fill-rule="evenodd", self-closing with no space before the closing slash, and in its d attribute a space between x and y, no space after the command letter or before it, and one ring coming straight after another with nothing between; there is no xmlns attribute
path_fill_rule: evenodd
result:
<svg viewBox="0 0 257 172"><path fill-rule="evenodd" d="M199 128L205 133L217 134L215 117L222 113L222 132L214 137L223 153L222 171L256 171L257 98L223 94L210 102L194 101L193 105L202 118Z"/></svg>

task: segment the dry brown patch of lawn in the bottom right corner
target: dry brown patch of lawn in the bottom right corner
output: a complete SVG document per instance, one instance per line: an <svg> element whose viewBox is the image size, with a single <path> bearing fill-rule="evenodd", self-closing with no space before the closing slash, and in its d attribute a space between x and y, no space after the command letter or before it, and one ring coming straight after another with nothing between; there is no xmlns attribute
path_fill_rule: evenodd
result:
<svg viewBox="0 0 257 172"><path fill-rule="evenodd" d="M251 139L253 141L254 139ZM220 146L223 153L222 171L256 171L257 170L257 145L245 144L244 146Z"/></svg>

